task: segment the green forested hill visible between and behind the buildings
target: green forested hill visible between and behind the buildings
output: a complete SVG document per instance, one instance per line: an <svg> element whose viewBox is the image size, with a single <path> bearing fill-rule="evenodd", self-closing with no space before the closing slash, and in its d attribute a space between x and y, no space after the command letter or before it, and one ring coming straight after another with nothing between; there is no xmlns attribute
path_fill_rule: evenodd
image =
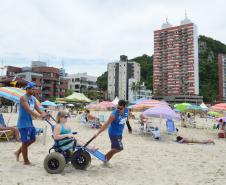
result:
<svg viewBox="0 0 226 185"><path fill-rule="evenodd" d="M226 53L226 45L206 36L199 36L199 94L204 102L213 103L218 95L218 54ZM141 82L147 89L153 88L153 56L142 55L135 61L141 67ZM98 77L97 85L107 91L107 72Z"/></svg>

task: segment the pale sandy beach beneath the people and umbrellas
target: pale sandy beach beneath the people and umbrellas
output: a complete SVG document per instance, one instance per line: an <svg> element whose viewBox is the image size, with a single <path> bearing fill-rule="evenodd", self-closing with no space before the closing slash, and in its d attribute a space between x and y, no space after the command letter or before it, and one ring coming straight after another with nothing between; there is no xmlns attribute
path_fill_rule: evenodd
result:
<svg viewBox="0 0 226 185"><path fill-rule="evenodd" d="M103 114L103 113L101 113ZM107 116L110 112L104 112ZM136 113L136 116L139 113ZM7 121L10 114L4 113ZM17 114L13 113L10 126L16 125ZM179 128L178 135L195 139L213 139L215 145L178 144L176 135L168 135L165 131L165 120L161 124L161 140L154 140L150 135L138 132L136 120L131 120L133 134L127 129L124 132L124 151L111 160L112 168L103 167L102 162L92 157L91 166L86 171L75 170L68 164L62 174L48 174L43 161L53 144L51 130L48 126L46 144L40 135L29 149L29 158L34 164L25 166L22 156L17 162L14 152L19 148L19 142L0 142L0 185L220 185L226 184L226 140L217 138L217 131L211 129L213 122L196 118L198 128ZM159 119L153 119L156 124ZM44 127L46 122L35 120L36 127ZM76 118L69 119L73 130L84 141L90 139L96 129L91 129L80 123ZM107 131L93 142L100 151L110 149Z"/></svg>

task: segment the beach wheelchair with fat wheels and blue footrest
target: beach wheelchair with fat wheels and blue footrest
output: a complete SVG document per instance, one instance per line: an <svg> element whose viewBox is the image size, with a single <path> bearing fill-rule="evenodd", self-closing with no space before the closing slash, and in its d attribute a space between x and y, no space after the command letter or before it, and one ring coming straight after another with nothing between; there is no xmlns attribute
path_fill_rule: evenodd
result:
<svg viewBox="0 0 226 185"><path fill-rule="evenodd" d="M50 116L52 120L55 119ZM45 119L45 121L51 126L53 131L54 125L50 122L50 120ZM77 134L74 132L73 134ZM49 149L49 154L44 159L44 168L48 173L56 174L61 173L66 164L71 162L71 164L76 169L85 170L91 164L91 155L95 156L101 161L105 161L105 155L100 151L91 151L86 148L95 137L91 138L84 146L77 146L76 140L71 139L69 141L65 141L65 143L59 145L58 141L54 141L54 145ZM61 148L69 143L73 142L73 147L67 150L62 150ZM91 154L91 155L90 155Z"/></svg>

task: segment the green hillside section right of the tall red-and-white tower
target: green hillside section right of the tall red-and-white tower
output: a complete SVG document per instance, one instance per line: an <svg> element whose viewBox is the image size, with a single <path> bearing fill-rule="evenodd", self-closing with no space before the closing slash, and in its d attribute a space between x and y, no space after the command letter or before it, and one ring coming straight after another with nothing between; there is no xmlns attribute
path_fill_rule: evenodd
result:
<svg viewBox="0 0 226 185"><path fill-rule="evenodd" d="M204 102L213 103L218 95L218 54L226 53L226 45L199 36L199 94Z"/></svg>

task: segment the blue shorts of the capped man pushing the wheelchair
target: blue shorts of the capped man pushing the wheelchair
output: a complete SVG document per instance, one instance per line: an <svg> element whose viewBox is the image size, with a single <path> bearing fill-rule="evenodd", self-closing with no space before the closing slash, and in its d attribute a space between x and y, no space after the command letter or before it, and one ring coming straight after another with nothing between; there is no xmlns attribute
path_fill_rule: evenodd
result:
<svg viewBox="0 0 226 185"><path fill-rule="evenodd" d="M19 128L20 140L22 143L35 140L36 130L35 127Z"/></svg>

